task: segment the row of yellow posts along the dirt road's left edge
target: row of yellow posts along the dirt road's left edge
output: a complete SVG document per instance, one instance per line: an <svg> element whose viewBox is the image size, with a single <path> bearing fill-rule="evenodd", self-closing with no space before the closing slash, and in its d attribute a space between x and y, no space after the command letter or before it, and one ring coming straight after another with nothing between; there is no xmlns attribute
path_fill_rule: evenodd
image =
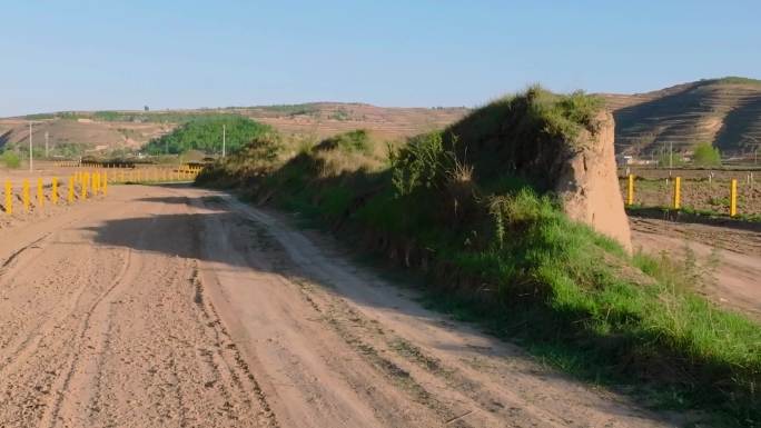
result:
<svg viewBox="0 0 761 428"><path fill-rule="evenodd" d="M92 196L108 195L108 175L101 171L82 171L69 177L67 187L66 200L68 203L73 203L77 200L85 200L88 193ZM31 210L30 182L24 179L21 182L21 205L24 212ZM58 177L50 180L50 202L58 205L60 199ZM41 209L45 207L46 195L45 183L42 178L37 179L37 206ZM6 180L6 213L13 213L13 186L10 180Z"/></svg>

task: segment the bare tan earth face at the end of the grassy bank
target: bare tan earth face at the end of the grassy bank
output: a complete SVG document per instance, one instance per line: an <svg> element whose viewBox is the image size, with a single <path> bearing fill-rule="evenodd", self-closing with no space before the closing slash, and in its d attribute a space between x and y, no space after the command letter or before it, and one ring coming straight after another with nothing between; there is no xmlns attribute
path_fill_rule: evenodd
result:
<svg viewBox="0 0 761 428"><path fill-rule="evenodd" d="M570 218L617 240L631 252L615 166L613 116L600 112L595 122L593 131L583 130L565 147L554 190Z"/></svg>

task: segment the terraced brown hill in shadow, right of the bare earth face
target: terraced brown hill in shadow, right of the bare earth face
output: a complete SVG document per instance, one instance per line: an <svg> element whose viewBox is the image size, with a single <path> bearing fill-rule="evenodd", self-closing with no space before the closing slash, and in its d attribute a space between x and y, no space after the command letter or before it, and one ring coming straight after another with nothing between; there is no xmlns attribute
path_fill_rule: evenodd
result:
<svg viewBox="0 0 761 428"><path fill-rule="evenodd" d="M761 80L700 80L639 94L601 94L615 117L616 152L651 155L710 142L724 155L761 148Z"/></svg>

